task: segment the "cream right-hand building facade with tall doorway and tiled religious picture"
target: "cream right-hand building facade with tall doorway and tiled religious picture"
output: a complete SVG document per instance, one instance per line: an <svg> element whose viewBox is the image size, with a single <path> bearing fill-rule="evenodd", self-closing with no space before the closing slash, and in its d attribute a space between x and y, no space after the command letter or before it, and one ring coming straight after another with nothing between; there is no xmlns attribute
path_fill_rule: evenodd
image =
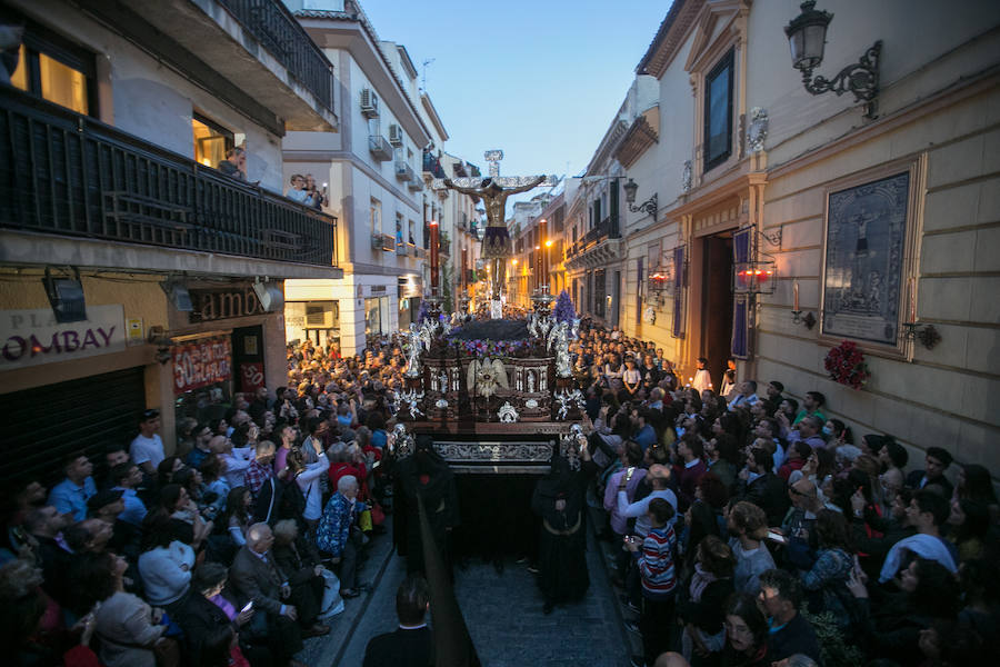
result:
<svg viewBox="0 0 1000 667"><path fill-rule="evenodd" d="M797 398L822 391L824 411L854 432L1000 469L989 408L1000 8L817 10L833 17L810 91L782 30L799 13L791 3L671 7L637 67L659 87L656 141L628 147L632 120L608 151L641 187L656 173L658 195L656 220L623 230L624 307L611 321L657 341L684 375L704 356L718 386L733 357L740 378L780 379ZM856 79L877 90L822 92L817 74L836 82L851 64L877 66ZM599 315L589 296L578 302ZM842 341L864 354L860 391L824 368Z"/></svg>

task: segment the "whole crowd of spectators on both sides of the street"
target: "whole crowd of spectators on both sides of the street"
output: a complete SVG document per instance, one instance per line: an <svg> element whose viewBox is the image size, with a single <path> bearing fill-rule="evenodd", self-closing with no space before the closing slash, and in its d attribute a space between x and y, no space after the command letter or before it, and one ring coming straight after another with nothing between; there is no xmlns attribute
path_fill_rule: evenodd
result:
<svg viewBox="0 0 1000 667"><path fill-rule="evenodd" d="M633 664L947 667L977 664L998 636L1000 502L951 444L911 466L891 436L828 418L809 387L732 364L717 394L706 361L684 381L662 348L617 329L584 322L570 350L589 504L642 638ZM170 456L147 410L103 460L74 455L51 489L6 489L0 631L14 663L294 665L366 593L406 356L376 337L363 355L306 341L288 360L287 387L179 425ZM400 627L422 628L427 594L408 586Z"/></svg>

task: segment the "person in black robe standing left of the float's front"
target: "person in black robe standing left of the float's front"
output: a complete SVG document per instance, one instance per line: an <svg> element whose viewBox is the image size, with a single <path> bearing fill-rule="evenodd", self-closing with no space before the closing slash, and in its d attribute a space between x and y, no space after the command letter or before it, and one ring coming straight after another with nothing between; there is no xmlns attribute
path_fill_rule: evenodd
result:
<svg viewBox="0 0 1000 667"><path fill-rule="evenodd" d="M417 436L413 455L396 466L396 485L393 540L399 555L407 557L407 573L426 575L418 519L419 494L427 510L431 536L450 574L451 552L448 548L448 534L459 525L458 494L454 474L448 467L448 461L434 451L431 436Z"/></svg>

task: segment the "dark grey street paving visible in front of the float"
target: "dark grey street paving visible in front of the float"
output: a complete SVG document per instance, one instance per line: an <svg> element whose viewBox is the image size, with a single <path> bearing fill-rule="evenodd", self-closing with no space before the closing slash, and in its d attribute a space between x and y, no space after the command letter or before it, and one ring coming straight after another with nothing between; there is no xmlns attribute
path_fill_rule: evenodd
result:
<svg viewBox="0 0 1000 667"><path fill-rule="evenodd" d="M591 536L587 554L591 584L587 597L579 604L557 607L549 616L542 614L534 576L523 565L508 560L503 574L498 575L492 565L473 560L464 571L457 570L456 594L484 667L628 665L630 648L614 601L616 591L600 561L602 557ZM369 567L376 564L370 561ZM303 651L300 659L318 667L360 666L368 640L396 627L396 589L404 576L403 559L389 557L352 631L338 634L339 639L323 638L323 648Z"/></svg>

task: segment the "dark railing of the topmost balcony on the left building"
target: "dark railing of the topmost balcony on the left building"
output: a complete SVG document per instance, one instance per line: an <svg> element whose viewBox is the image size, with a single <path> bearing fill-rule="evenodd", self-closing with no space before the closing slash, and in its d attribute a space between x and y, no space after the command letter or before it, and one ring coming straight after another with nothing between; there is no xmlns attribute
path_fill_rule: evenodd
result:
<svg viewBox="0 0 1000 667"><path fill-rule="evenodd" d="M280 0L219 0L327 109L333 110L333 66Z"/></svg>

